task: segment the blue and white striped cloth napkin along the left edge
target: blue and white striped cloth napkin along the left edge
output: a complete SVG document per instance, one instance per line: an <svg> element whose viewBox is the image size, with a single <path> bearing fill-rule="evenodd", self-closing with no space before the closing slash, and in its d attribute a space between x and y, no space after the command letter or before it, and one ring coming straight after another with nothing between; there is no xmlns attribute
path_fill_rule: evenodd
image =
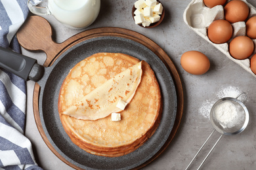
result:
<svg viewBox="0 0 256 170"><path fill-rule="evenodd" d="M0 0L0 46L20 52L16 31L28 16L27 0ZM0 169L41 169L24 136L26 82L0 69Z"/></svg>

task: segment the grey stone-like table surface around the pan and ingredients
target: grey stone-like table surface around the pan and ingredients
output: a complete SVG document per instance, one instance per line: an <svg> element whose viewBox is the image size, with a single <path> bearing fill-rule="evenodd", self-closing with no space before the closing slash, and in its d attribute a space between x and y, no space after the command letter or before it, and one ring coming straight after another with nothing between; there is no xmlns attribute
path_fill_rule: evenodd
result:
<svg viewBox="0 0 256 170"><path fill-rule="evenodd" d="M249 124L245 131L238 135L224 136L207 158L202 169L256 169L256 78L224 56L184 23L183 12L190 0L161 0L165 7L165 18L160 25L151 29L135 25L131 16L134 2L134 0L102 0L98 18L85 29L70 29L60 24L53 16L43 17L53 27L53 40L56 42L63 42L76 33L96 27L122 27L137 31L163 48L177 67L184 89L181 125L165 152L143 169L185 169L213 130L209 120L209 111L213 103L221 97L236 97L240 92L247 93L245 105L249 110ZM247 2L256 7L256 1L247 0ZM188 50L198 50L209 58L211 67L207 73L190 75L182 69L181 55ZM41 64L46 58L43 52L28 52L22 49L22 54L36 58ZM41 138L33 117L34 82L28 81L27 84L25 135L32 141L37 163L46 170L74 169L57 158ZM190 169L196 169L200 165L219 135L219 133L213 135L213 139L203 148Z"/></svg>

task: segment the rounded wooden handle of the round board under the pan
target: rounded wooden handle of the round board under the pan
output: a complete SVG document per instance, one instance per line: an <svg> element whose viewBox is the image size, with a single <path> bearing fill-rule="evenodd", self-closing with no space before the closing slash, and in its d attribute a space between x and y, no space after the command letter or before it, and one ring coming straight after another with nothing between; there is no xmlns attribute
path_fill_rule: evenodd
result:
<svg viewBox="0 0 256 170"><path fill-rule="evenodd" d="M44 66L49 66L51 61L66 46L58 44L52 39L51 25L41 16L30 16L17 32L20 45L26 50L43 50L47 54Z"/></svg>

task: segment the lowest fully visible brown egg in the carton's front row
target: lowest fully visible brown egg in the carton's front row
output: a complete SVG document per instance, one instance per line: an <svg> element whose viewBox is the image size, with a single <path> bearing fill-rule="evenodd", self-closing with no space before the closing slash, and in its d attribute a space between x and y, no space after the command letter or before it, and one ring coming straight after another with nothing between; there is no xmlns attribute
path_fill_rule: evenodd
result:
<svg viewBox="0 0 256 170"><path fill-rule="evenodd" d="M247 36L238 36L229 44L229 52L233 58L245 59L249 58L254 50L253 41Z"/></svg>

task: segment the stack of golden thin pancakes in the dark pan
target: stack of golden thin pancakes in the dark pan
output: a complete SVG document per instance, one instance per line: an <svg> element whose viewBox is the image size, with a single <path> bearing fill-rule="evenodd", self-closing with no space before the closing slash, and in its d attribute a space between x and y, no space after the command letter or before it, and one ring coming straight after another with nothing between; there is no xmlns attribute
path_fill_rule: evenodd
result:
<svg viewBox="0 0 256 170"><path fill-rule="evenodd" d="M91 154L116 157L133 152L154 134L160 123L161 93L154 71L146 61L141 63L141 80L137 88L133 88L131 100L124 110L114 111L121 114L120 121L112 121L111 112L103 113L104 116L98 114L100 108L106 109L108 100L106 103L101 101L93 108L98 110L90 111L90 114L87 114L88 105L84 105L91 103L94 95L94 100L98 101L98 93L108 92L108 97L121 97L112 90L105 92L100 89L113 86L106 82L113 80L115 83L113 78L116 75L123 73L125 76L125 71L139 62L126 54L97 53L77 63L70 71L60 89L58 112L73 143ZM91 101L88 101L88 96Z"/></svg>

